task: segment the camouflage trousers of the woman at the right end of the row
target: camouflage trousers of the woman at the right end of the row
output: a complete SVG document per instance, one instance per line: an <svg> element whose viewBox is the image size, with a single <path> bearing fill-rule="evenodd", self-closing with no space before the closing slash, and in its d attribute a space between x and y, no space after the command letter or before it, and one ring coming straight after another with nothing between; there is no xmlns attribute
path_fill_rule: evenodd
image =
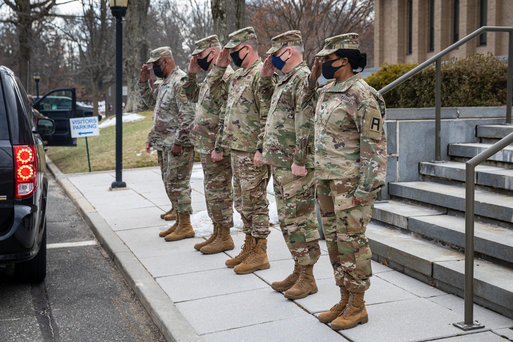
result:
<svg viewBox="0 0 513 342"><path fill-rule="evenodd" d="M317 180L317 200L335 283L351 292L370 286L372 253L365 229L374 200L352 205L359 178Z"/></svg>

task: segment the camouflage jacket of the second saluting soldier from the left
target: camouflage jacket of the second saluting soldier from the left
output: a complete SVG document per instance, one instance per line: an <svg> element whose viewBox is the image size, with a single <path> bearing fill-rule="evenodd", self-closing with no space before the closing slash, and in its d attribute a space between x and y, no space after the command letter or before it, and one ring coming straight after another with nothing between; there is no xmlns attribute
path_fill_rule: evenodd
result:
<svg viewBox="0 0 513 342"><path fill-rule="evenodd" d="M223 75L223 81L226 81L233 73L233 69L228 66ZM212 72L202 84L198 84L196 74L187 73L182 78L182 87L185 95L191 103L196 103L196 116L192 127L192 136L194 137L194 148L196 152L209 154L214 149L215 138L219 131L219 113L226 108L226 89L217 87L218 93L213 93L211 89Z"/></svg>

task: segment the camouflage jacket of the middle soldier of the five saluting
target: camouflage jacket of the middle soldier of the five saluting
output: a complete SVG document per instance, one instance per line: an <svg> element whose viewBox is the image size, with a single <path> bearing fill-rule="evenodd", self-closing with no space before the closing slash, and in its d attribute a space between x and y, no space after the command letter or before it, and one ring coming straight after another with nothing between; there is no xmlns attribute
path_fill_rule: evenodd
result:
<svg viewBox="0 0 513 342"><path fill-rule="evenodd" d="M226 111L221 110L219 115L215 147L246 152L255 152L262 147L267 108L261 107L258 91L261 68L262 61L258 58L248 68L239 68L227 79L224 78L226 69L214 65L210 70L210 91L221 94L218 88L222 88L228 93Z"/></svg>

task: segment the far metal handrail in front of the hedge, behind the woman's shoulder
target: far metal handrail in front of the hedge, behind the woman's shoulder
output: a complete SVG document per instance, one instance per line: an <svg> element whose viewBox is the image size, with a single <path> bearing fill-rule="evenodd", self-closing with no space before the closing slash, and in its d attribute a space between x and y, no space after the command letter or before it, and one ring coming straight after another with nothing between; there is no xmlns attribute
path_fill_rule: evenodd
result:
<svg viewBox="0 0 513 342"><path fill-rule="evenodd" d="M509 32L509 45L508 45L508 56L513 56L513 27L500 27L500 26L483 26L479 28L478 30L470 33L461 41L456 42L455 44L452 44L445 50L440 51L436 55L429 58L426 62L420 64L419 66L411 69L398 79L396 81L393 81L388 86L380 89L380 93L383 95L393 88L399 86L401 83L406 81L408 78L410 78L413 75L416 75L423 69L427 68L433 63L436 63L435 65L435 74L436 74L436 83L435 83L435 162L441 162L441 108L442 108L442 82L441 82L441 70L442 70L442 57L446 56L448 53L450 53L453 50L458 49L463 44L469 42L471 39L476 38L481 33L484 32ZM511 124L511 91L512 91L512 84L511 84L511 78L513 76L513 58L508 58L508 76L507 76L507 86L506 86L506 123Z"/></svg>

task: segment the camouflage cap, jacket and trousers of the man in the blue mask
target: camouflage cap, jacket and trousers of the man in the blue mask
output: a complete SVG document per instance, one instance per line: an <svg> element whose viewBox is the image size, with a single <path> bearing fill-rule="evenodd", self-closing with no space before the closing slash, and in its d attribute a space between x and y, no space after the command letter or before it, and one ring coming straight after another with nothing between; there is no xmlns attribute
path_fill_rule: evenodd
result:
<svg viewBox="0 0 513 342"><path fill-rule="evenodd" d="M299 31L272 38L268 54L282 47L302 45ZM313 116L302 111L301 89L310 73L306 62L289 71L275 86L271 77L260 78L263 102L269 107L262 162L271 166L280 228L294 260L313 265L319 259L319 225L315 216L313 177ZM295 176L292 163L305 166L306 176Z"/></svg>

